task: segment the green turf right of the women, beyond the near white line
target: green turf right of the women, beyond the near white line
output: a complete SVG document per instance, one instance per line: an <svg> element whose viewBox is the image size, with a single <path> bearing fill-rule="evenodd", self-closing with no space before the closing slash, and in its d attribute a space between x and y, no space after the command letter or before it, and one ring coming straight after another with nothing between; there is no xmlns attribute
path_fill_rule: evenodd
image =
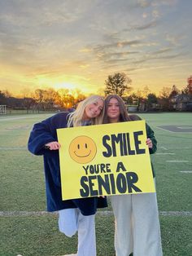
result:
<svg viewBox="0 0 192 256"><path fill-rule="evenodd" d="M155 166L159 210L192 210L190 193L192 192L192 174L180 171L192 171L192 133L172 133L157 128L164 125L192 126L191 113L141 114L155 131L158 141L157 153L174 153L151 157ZM167 161L188 162L167 162Z"/></svg>

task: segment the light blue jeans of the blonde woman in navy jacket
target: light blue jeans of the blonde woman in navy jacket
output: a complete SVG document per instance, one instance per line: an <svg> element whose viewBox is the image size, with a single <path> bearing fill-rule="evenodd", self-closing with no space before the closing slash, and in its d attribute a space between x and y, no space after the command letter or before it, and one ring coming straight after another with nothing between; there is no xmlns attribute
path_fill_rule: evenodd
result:
<svg viewBox="0 0 192 256"><path fill-rule="evenodd" d="M77 208L59 210L59 231L69 237L78 232L77 256L96 256L94 217L84 216Z"/></svg>

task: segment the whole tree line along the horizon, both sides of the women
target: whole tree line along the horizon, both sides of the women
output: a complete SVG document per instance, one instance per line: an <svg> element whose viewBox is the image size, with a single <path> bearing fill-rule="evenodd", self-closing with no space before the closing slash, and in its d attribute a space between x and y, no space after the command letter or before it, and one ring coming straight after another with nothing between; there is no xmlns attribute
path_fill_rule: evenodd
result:
<svg viewBox="0 0 192 256"><path fill-rule="evenodd" d="M183 90L178 90L177 86L164 87L158 96L151 93L148 86L133 92L131 84L132 80L125 73L111 74L105 81L102 95L120 95L125 104L136 106L137 111L172 111L176 109L175 105L181 98L181 101L183 100L189 105L189 108L185 110L192 111L192 86L190 84L187 84ZM23 97L16 98L9 91L0 90L0 105L7 105L7 108L12 109L26 109L27 111L66 110L76 108L76 105L85 97L81 90L74 90L72 93L68 89L48 88L37 89L33 93L24 91Z"/></svg>

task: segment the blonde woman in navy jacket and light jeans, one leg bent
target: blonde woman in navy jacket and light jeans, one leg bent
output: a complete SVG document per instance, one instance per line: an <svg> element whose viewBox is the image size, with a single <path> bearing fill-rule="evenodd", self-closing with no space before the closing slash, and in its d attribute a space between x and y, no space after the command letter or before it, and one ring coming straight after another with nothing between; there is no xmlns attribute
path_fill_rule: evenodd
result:
<svg viewBox="0 0 192 256"><path fill-rule="evenodd" d="M102 197L62 201L59 170L60 144L57 141L56 130L100 124L103 121L103 108L103 98L92 95L81 101L73 113L58 113L35 124L28 139L28 150L44 157L47 210L59 211L60 232L69 237L78 232L77 253L70 255L96 256L94 216L98 207L107 206L107 201Z"/></svg>

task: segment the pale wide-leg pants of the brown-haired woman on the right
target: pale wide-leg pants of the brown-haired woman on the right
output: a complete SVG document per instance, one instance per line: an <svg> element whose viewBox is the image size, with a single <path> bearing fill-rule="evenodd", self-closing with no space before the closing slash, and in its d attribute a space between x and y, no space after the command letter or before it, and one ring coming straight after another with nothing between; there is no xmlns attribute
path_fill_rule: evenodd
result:
<svg viewBox="0 0 192 256"><path fill-rule="evenodd" d="M116 256L162 256L156 193L110 197Z"/></svg>

